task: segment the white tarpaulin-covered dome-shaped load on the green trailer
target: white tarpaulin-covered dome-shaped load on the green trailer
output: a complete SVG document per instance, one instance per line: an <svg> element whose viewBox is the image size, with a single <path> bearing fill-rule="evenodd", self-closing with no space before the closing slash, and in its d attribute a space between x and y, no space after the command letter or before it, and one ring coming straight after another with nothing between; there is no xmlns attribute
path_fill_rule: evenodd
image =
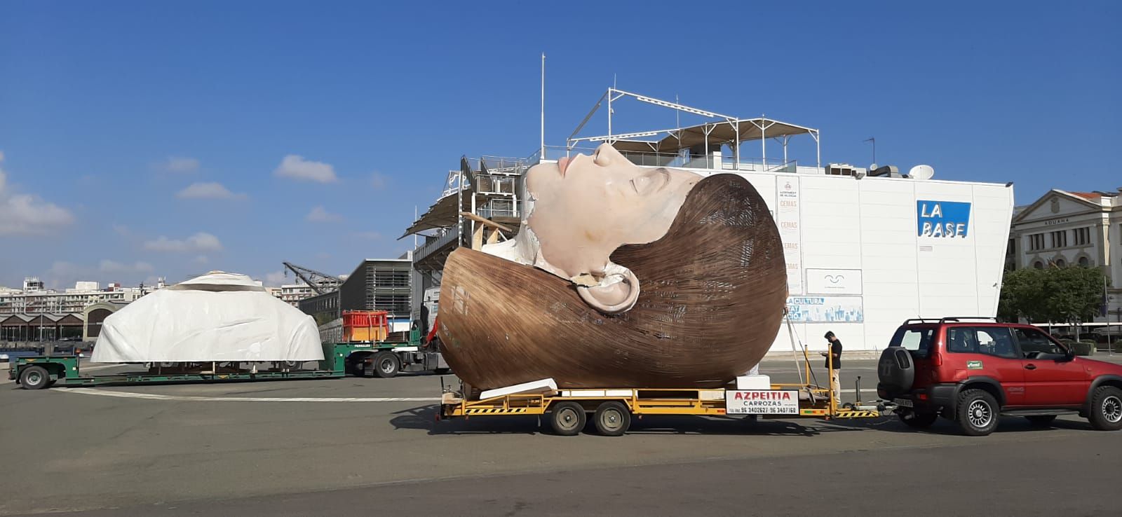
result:
<svg viewBox="0 0 1122 517"><path fill-rule="evenodd" d="M211 271L105 318L93 362L319 361L315 320L248 276Z"/></svg>

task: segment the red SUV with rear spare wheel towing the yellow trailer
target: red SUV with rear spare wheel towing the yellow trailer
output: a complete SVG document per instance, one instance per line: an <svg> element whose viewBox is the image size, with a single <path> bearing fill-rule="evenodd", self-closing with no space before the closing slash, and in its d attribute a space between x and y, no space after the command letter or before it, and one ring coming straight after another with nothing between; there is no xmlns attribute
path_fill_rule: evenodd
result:
<svg viewBox="0 0 1122 517"><path fill-rule="evenodd" d="M1048 425L1078 414L1096 430L1122 428L1122 364L1075 357L1032 325L908 320L881 354L877 377L877 395L912 427L942 416L982 436L999 416Z"/></svg>

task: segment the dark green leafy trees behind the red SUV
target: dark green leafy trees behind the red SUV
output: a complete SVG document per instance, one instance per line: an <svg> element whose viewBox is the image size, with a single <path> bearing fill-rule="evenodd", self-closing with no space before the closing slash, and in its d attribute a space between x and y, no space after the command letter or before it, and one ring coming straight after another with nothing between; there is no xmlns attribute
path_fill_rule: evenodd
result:
<svg viewBox="0 0 1122 517"><path fill-rule="evenodd" d="M1082 266L1005 271L997 315L1004 321L1080 323L1102 304L1106 276Z"/></svg>

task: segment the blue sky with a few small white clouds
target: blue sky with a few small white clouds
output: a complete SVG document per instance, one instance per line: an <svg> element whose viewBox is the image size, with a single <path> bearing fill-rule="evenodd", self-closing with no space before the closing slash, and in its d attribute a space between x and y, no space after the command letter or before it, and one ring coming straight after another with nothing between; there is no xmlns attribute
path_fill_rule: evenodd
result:
<svg viewBox="0 0 1122 517"><path fill-rule="evenodd" d="M1113 191L1120 25L1116 2L0 1L0 285L396 257L461 155L536 149L542 52L548 144L615 77L819 128L824 161L875 137L1018 203Z"/></svg>

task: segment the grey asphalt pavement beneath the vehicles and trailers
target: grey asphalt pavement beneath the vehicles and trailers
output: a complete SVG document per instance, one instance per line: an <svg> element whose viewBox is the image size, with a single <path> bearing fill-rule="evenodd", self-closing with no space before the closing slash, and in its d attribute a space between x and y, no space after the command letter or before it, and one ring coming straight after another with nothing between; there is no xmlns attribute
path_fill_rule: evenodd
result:
<svg viewBox="0 0 1122 517"><path fill-rule="evenodd" d="M797 381L793 369L762 368L778 382ZM844 382L858 375L872 397L874 361L847 361ZM916 432L894 418L733 417L554 436L535 417L436 422L440 382L0 384L0 515L1116 510L1122 433L1077 417L1045 430L1006 418L981 438L949 422Z"/></svg>

